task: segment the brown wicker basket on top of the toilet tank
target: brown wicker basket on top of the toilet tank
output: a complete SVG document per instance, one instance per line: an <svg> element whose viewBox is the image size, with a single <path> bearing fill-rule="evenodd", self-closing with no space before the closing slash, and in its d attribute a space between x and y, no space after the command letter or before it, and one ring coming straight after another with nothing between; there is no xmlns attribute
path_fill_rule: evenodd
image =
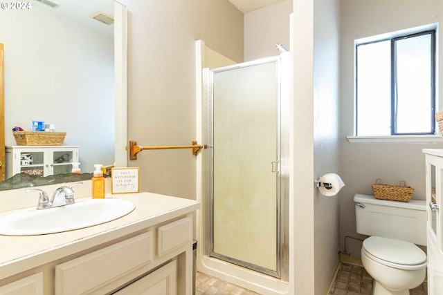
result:
<svg viewBox="0 0 443 295"><path fill-rule="evenodd" d="M409 202L414 192L412 187L406 186L404 180L401 180L400 185L382 184L380 178L377 178L375 183L372 184L372 190L376 199L399 202Z"/></svg>

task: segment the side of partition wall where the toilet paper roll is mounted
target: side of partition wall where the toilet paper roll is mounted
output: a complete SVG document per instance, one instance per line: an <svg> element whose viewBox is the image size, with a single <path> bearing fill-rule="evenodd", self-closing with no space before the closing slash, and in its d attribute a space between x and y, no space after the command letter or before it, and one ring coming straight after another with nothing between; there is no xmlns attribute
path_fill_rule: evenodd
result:
<svg viewBox="0 0 443 295"><path fill-rule="evenodd" d="M340 0L314 3L314 178L340 173ZM347 180L345 180L347 183ZM324 294L338 261L339 200L314 191L315 293Z"/></svg>

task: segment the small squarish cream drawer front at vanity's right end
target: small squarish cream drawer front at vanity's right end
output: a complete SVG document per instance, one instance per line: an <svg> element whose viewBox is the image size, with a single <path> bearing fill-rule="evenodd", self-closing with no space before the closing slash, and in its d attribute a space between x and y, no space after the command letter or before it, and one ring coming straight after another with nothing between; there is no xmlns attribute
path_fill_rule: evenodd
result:
<svg viewBox="0 0 443 295"><path fill-rule="evenodd" d="M158 255L159 257L185 245L192 240L192 218L190 216L163 225L158 229Z"/></svg>

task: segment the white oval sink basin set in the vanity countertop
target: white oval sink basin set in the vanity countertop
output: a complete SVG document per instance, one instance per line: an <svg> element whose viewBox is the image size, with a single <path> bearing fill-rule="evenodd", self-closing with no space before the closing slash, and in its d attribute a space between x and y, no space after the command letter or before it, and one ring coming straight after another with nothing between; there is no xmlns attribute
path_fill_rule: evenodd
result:
<svg viewBox="0 0 443 295"><path fill-rule="evenodd" d="M134 208L127 200L92 199L50 209L24 209L0 218L0 234L35 236L82 229L116 220Z"/></svg>

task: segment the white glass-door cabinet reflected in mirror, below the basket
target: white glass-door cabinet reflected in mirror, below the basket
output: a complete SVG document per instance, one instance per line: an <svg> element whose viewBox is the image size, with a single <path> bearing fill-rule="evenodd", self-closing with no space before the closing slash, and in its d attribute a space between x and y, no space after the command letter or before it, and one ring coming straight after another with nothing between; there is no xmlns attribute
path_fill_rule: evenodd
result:
<svg viewBox="0 0 443 295"><path fill-rule="evenodd" d="M6 146L6 178L17 173L48 176L71 173L79 146Z"/></svg>

